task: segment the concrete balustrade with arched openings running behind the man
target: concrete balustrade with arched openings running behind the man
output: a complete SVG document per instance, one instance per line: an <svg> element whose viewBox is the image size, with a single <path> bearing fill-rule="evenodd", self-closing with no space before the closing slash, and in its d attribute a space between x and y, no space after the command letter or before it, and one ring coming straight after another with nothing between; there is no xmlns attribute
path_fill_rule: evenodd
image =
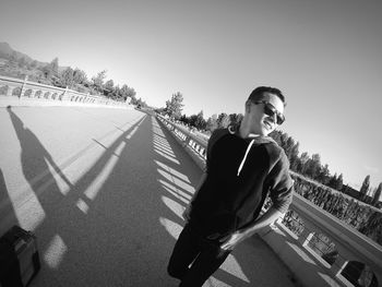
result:
<svg viewBox="0 0 382 287"><path fill-rule="evenodd" d="M198 166L204 168L206 141L162 116L157 118ZM303 220L302 234L296 236L279 219L265 229L261 237L295 273L302 285L307 287L354 286L342 276L342 271L349 261L357 261L371 268L378 279L378 286L381 286L381 246L297 193L294 194L289 208ZM308 247L314 234L323 234L335 243L338 255L333 264L329 264Z"/></svg>

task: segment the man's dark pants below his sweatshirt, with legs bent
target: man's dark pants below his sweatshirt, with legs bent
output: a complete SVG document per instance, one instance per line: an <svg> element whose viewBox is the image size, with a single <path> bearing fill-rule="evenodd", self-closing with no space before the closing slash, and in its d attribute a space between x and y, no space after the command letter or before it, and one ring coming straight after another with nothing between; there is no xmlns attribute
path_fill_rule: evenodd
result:
<svg viewBox="0 0 382 287"><path fill-rule="evenodd" d="M175 244L167 271L181 280L179 287L202 286L229 253L220 249L217 241L203 238L195 226L187 224Z"/></svg>

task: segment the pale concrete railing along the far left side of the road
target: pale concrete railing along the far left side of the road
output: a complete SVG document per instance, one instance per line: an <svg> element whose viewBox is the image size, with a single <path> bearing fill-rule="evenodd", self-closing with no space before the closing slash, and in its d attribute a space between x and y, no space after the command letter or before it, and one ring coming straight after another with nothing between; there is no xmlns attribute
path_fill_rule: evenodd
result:
<svg viewBox="0 0 382 287"><path fill-rule="evenodd" d="M8 106L84 106L131 108L127 103L103 96L44 85L25 80L0 76L0 107Z"/></svg>

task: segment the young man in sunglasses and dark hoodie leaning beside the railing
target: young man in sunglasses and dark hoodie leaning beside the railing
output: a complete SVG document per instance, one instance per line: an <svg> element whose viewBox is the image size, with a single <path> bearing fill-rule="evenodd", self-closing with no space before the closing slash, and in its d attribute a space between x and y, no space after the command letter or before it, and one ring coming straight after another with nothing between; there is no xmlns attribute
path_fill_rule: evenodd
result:
<svg viewBox="0 0 382 287"><path fill-rule="evenodd" d="M284 122L284 107L279 89L260 86L246 101L240 128L211 135L206 170L183 213L187 224L168 264L179 286L202 286L238 243L287 212L289 163L267 136ZM267 195L273 204L259 216Z"/></svg>

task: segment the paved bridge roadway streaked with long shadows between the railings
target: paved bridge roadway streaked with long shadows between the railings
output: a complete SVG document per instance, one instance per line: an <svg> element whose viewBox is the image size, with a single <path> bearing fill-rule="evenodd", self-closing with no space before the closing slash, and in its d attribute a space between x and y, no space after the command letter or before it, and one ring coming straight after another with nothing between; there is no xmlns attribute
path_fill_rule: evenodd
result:
<svg viewBox="0 0 382 287"><path fill-rule="evenodd" d="M136 110L0 109L0 234L34 230L32 287L177 286L166 265L201 171L156 119ZM260 239L204 285L294 286Z"/></svg>

